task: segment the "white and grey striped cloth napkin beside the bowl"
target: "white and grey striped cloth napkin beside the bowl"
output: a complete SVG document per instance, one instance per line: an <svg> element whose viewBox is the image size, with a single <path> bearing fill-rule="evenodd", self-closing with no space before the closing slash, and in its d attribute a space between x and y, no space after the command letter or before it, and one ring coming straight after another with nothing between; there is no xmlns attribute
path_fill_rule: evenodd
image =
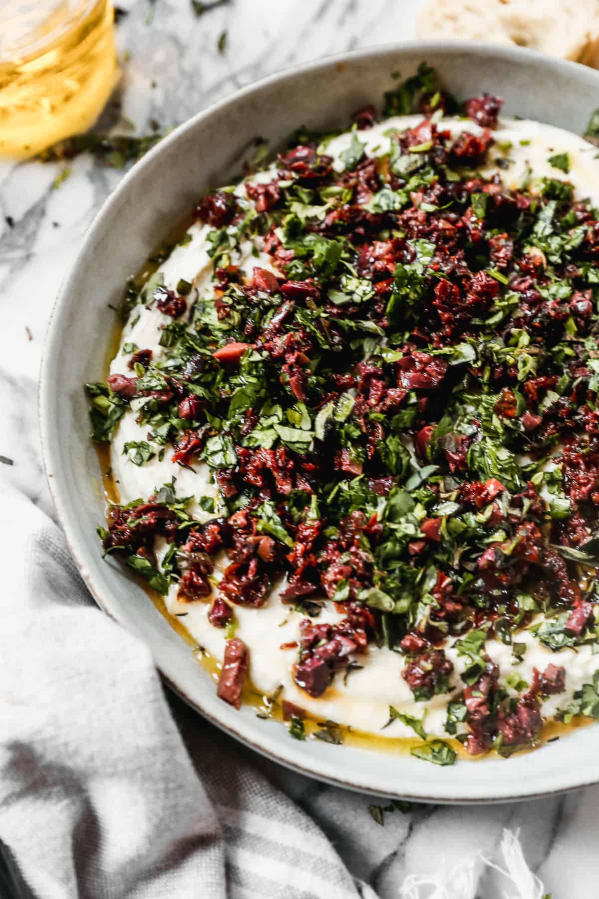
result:
<svg viewBox="0 0 599 899"><path fill-rule="evenodd" d="M93 605L61 531L0 496L0 895L373 899L177 703L188 752L148 650Z"/></svg>

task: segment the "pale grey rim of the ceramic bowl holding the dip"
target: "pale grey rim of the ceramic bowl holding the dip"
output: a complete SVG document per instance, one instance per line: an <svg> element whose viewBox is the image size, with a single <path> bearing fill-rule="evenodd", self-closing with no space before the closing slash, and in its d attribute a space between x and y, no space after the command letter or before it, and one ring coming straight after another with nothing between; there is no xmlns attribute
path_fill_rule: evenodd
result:
<svg viewBox="0 0 599 899"><path fill-rule="evenodd" d="M520 47L503 47L490 43L473 42L466 40L403 40L393 41L384 44L377 44L374 47L366 47L356 50L350 50L343 53L332 54L319 57L300 65L288 66L277 70L269 76L260 78L258 81L251 82L239 90L228 93L222 99L211 103L204 109L198 111L189 119L183 121L172 132L163 138L156 146L154 146L145 156L129 169L128 173L122 178L114 191L104 200L100 209L92 219L91 225L87 228L84 239L75 254L74 260L70 263L65 276L61 280L57 297L54 300L49 318L48 327L45 335L39 376L39 394L38 394L38 414L40 420L40 444L44 468L46 472L48 489L52 497L52 501L57 511L57 518L60 526L64 530L66 536L66 544L70 552L75 558L75 563L81 573L84 583L97 605L110 616L111 619L117 621L123 627L126 625L119 617L119 603L113 602L110 591L102 587L101 583L96 583L87 565L86 550L84 546L79 545L78 527L75 518L72 517L71 508L66 500L64 487L61 483L60 475L61 467L59 464L59 434L54 426L52 416L50 414L52 399L54 396L54 387L51 378L52 366L56 357L56 344L62 333L63 319L66 316L66 307L69 294L71 293L71 284L75 280L76 272L85 262L92 246L96 233L101 230L102 223L106 218L110 217L113 206L118 202L119 196L123 191L128 190L128 186L133 182L145 168L154 164L154 159L160 156L167 147L178 141L189 130L196 129L201 126L202 122L209 121L210 118L232 102L239 102L244 98L249 98L253 94L260 93L265 87L275 84L285 84L292 81L296 76L309 72L318 72L322 69L323 73L330 69L331 66L343 65L346 62L359 60L363 58L387 57L391 54L401 55L402 53L422 53L422 58L426 58L427 53L442 52L450 56L475 56L477 58L500 58L507 64L510 62L520 62L529 60L532 65L538 63L544 68L557 70L564 75L572 77L573 81L580 82L580 79L587 80L589 84L595 83L599 88L599 72L594 69L581 66L569 60L551 58L532 49L524 49ZM598 92L599 93L599 92ZM151 248L149 248L151 250ZM431 784L431 792L417 789L410 792L410 788L389 789L385 788L380 781L377 781L376 775L371 771L370 774L361 774L360 781L357 779L346 779L342 770L339 773L339 765L331 765L327 761L314 758L313 767L304 765L295 757L294 741L284 743L278 738L271 739L265 734L265 739L257 743L249 733L251 727L244 719L240 717L239 725L229 725L225 721L210 712L207 708L203 708L202 704L195 699L191 699L186 690L177 681L177 678L169 671L168 665L159 665L155 658L154 647L149 643L146 644L153 655L154 663L158 672L161 674L163 681L183 699L191 708L198 711L202 717L216 725L220 730L232 736L238 742L250 747L255 752L259 752L271 761L276 761L284 765L290 770L294 770L307 777L321 780L332 786L351 789L353 791L364 793L370 796L380 797L401 797L420 803L435 804L452 804L452 805L480 805L483 803L505 803L514 802L524 799L540 798L551 796L558 793L568 792L570 790L592 786L599 783L599 768L596 773L588 774L583 767L578 768L576 765L569 766L567 771L553 772L551 783L547 788L539 789L535 786L528 786L527 781L522 781L521 788L517 792L502 788L497 780L491 786L489 779L488 788L478 788L471 791L472 795L464 795L461 792L456 794L455 788L450 788L449 784L444 788L443 785ZM280 743L280 744L279 744ZM374 751L373 751L374 752ZM374 759L376 755L374 754ZM481 761L480 764L484 764ZM375 766L373 766L374 768Z"/></svg>

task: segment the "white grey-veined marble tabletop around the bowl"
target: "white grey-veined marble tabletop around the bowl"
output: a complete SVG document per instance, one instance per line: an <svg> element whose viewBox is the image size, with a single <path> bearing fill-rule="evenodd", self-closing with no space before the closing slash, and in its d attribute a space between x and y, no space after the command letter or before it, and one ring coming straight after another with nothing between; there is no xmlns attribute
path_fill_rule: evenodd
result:
<svg viewBox="0 0 599 899"><path fill-rule="evenodd" d="M201 18L189 0L122 5L130 10L119 23L119 47L130 55L123 64L123 114L143 133L152 119L176 124L282 67L413 37L418 0L236 0ZM225 53L219 54L216 41L225 30ZM122 174L87 156L71 167L72 174L53 190L59 165L0 163L0 455L14 462L3 473L51 514L37 426L37 372L48 313L85 229ZM176 699L172 705L178 716L191 714ZM497 859L504 827L521 828L526 859L553 899L599 893L599 788L519 805L422 806L388 814L380 827L367 812L375 797L257 763L314 815L352 873L381 899L398 896L406 874L444 864L451 869L476 852ZM483 873L482 866L480 872L478 899L514 894L504 892L507 884L498 874Z"/></svg>

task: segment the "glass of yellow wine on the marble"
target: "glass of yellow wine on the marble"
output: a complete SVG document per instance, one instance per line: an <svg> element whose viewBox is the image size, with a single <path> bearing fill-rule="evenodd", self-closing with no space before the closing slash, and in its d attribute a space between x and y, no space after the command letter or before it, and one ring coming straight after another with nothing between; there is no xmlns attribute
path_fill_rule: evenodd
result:
<svg viewBox="0 0 599 899"><path fill-rule="evenodd" d="M90 128L119 80L110 0L4 0L0 155L33 156Z"/></svg>

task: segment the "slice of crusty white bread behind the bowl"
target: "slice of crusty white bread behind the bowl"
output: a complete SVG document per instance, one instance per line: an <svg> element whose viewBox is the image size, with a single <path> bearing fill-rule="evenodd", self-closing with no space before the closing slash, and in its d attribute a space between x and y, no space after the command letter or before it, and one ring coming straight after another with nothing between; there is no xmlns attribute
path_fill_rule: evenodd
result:
<svg viewBox="0 0 599 899"><path fill-rule="evenodd" d="M599 67L599 0L429 0L417 34L516 44Z"/></svg>

